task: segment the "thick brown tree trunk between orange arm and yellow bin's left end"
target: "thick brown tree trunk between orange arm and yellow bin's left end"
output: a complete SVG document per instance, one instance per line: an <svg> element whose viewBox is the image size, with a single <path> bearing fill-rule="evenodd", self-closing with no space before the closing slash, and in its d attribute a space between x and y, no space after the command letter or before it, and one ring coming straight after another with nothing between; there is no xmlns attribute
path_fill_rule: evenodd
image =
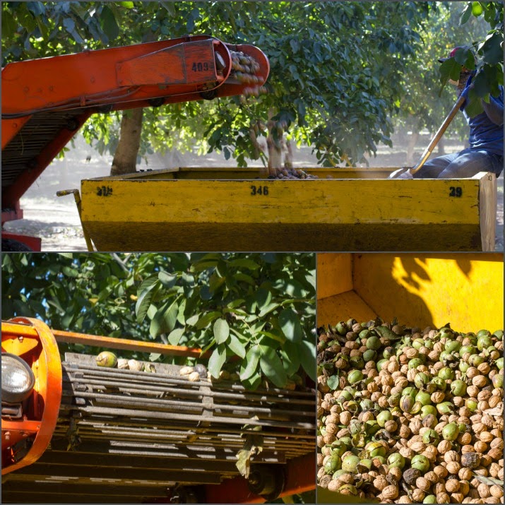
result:
<svg viewBox="0 0 505 505"><path fill-rule="evenodd" d="M141 145L143 109L130 109L123 112L119 143L117 144L111 175L136 172L138 148Z"/></svg>

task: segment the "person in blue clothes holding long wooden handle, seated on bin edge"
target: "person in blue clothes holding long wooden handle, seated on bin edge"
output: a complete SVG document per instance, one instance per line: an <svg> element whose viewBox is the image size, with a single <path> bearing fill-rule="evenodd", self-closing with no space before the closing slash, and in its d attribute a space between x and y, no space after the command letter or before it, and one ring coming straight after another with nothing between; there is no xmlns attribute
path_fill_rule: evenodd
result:
<svg viewBox="0 0 505 505"><path fill-rule="evenodd" d="M449 58L453 57L455 47ZM439 59L440 62L448 58ZM479 172L492 172L501 174L504 165L504 88L499 86L500 94L497 97L489 95L489 103L480 100L484 112L470 117L465 111L468 103L468 93L473 88L472 79L475 71L470 71L465 66L461 66L461 73L458 81L449 82L456 86L458 97L463 95L467 102L463 103L461 111L470 126L469 143L470 147L463 149L459 153L452 153L427 161L424 166L415 174L408 172L400 175L400 179L458 179L463 177L473 177Z"/></svg>

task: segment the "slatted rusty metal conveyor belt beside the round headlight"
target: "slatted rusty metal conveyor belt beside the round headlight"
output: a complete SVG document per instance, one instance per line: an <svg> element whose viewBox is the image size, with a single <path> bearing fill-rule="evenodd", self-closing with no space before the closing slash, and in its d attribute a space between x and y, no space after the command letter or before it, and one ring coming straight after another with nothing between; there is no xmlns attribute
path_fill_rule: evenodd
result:
<svg viewBox="0 0 505 505"><path fill-rule="evenodd" d="M6 503L35 496L45 503L168 502L179 486L200 489L203 502L205 489L239 475L246 426L263 435L251 463L287 468L314 454L314 389L246 391L230 381L190 382L175 365L156 363L155 373L107 369L72 353L62 369L49 449L9 474Z"/></svg>

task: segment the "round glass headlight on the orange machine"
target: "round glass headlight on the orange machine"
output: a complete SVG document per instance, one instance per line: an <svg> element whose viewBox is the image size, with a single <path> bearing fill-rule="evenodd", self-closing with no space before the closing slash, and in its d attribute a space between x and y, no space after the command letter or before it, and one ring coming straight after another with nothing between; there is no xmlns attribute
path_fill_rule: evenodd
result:
<svg viewBox="0 0 505 505"><path fill-rule="evenodd" d="M35 386L35 376L25 360L10 352L1 353L1 400L19 403L28 398Z"/></svg>

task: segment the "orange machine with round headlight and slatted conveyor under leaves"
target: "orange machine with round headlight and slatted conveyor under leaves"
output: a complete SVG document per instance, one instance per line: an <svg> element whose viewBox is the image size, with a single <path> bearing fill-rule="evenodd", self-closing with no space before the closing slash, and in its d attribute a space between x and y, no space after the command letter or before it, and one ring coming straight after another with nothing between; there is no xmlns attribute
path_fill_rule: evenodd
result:
<svg viewBox="0 0 505 505"><path fill-rule="evenodd" d="M174 364L100 367L95 355L61 359L61 343L206 356L2 321L2 502L263 503L315 489L313 386L248 391Z"/></svg>

